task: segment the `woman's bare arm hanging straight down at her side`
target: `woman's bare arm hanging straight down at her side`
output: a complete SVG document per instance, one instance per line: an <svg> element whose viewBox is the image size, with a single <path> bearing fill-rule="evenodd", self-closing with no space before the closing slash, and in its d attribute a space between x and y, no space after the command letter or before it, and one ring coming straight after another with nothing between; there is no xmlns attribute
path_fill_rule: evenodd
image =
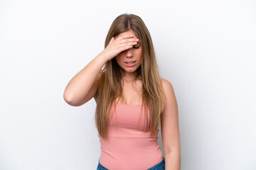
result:
<svg viewBox="0 0 256 170"><path fill-rule="evenodd" d="M165 169L181 169L181 150L178 128L178 106L173 86L162 79L166 95L166 105L161 113L161 136L164 147Z"/></svg>

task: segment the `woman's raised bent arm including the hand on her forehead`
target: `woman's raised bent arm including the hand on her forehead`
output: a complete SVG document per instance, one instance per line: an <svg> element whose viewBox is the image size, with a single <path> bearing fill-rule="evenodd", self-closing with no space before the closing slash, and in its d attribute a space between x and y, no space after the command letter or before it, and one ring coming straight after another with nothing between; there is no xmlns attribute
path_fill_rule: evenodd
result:
<svg viewBox="0 0 256 170"><path fill-rule="evenodd" d="M81 106L90 101L97 91L100 70L107 61L137 44L138 39L132 37L133 35L128 34L118 38L112 37L105 50L70 80L63 94L64 100L71 106Z"/></svg>

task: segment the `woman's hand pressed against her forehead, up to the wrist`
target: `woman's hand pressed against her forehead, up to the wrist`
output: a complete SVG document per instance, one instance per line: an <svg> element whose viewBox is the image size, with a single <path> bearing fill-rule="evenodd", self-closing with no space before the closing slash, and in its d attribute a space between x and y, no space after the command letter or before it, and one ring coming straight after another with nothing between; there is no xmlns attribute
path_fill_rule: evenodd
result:
<svg viewBox="0 0 256 170"><path fill-rule="evenodd" d="M136 45L138 40L137 38L133 38L133 35L122 35L116 39L112 37L105 50L102 51L102 54L105 55L107 61L112 60L112 58L116 57L120 52Z"/></svg>

